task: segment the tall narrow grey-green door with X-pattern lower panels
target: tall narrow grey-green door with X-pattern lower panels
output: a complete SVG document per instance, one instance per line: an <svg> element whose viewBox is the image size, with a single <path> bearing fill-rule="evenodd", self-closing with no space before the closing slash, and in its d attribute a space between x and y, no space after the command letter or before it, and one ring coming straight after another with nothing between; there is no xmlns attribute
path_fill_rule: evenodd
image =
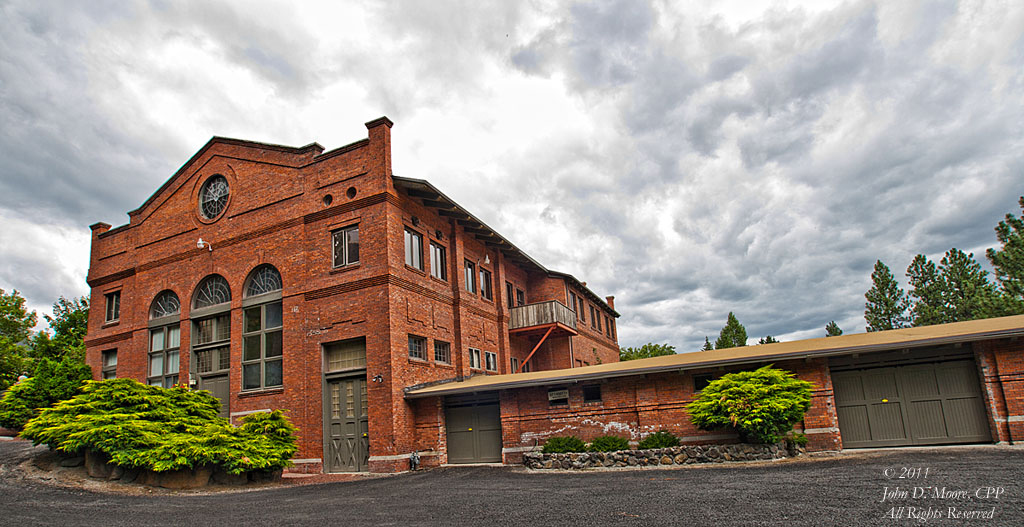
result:
<svg viewBox="0 0 1024 527"><path fill-rule="evenodd" d="M327 472L362 472L370 459L365 377L329 379L324 401Z"/></svg>

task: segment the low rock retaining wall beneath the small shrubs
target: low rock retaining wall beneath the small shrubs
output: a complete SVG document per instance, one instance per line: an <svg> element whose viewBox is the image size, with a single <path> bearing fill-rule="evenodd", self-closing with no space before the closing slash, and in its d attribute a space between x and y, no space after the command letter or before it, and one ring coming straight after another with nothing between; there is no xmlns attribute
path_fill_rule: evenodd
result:
<svg viewBox="0 0 1024 527"><path fill-rule="evenodd" d="M698 463L754 462L799 455L786 450L785 443L773 445L731 444L693 445L651 450L616 452L543 453L526 452L523 465L528 469L597 469L602 467L651 467Z"/></svg>

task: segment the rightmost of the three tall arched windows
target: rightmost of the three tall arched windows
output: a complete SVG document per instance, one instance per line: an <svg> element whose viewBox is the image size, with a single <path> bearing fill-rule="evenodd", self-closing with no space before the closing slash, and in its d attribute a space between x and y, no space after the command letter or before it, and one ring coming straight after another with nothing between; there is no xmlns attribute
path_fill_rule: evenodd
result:
<svg viewBox="0 0 1024 527"><path fill-rule="evenodd" d="M261 265L249 274L242 305L242 389L259 390L284 384L281 273Z"/></svg>

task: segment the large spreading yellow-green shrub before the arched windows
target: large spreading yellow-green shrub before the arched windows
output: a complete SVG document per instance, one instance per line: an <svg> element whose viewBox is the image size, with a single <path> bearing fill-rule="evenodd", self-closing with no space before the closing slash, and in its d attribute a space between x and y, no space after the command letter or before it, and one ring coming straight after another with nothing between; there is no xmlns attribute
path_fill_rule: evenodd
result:
<svg viewBox="0 0 1024 527"><path fill-rule="evenodd" d="M252 413L241 427L217 415L220 401L185 387L131 379L86 383L82 393L44 409L22 436L63 452L105 453L111 463L155 472L217 466L230 474L291 465L295 428L280 411Z"/></svg>

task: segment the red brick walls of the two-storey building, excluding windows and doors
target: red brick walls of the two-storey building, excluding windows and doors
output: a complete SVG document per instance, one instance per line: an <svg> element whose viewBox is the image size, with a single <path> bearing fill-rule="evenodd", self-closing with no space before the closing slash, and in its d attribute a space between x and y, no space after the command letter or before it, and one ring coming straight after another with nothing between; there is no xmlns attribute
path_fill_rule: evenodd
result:
<svg viewBox="0 0 1024 527"><path fill-rule="evenodd" d="M526 304L567 305L570 291L587 304L588 323L578 324L575 336L550 336L530 358L532 370L618 359L612 307L575 278L534 263L461 209L456 214L447 204L411 195L391 174L390 121L367 128L367 139L331 151L315 143L296 148L214 138L130 212L128 224L93 225L88 280L96 309L86 357L96 377L103 353L116 352L117 377L145 382L151 307L171 291L180 300L179 382L195 379L193 299L204 277L218 274L230 288L230 415L284 409L300 430L295 470L322 471L324 345L365 338L370 470L388 472L408 468L414 450L444 451L437 428L422 425L436 416L438 403L407 402L407 387L508 374L511 359L521 362L537 345L536 335L509 332L506 282L513 294L523 292ZM200 214L199 201L214 175L226 178L230 192L225 210L211 220ZM332 233L352 226L358 227L358 262L335 267ZM407 229L422 236L422 269L407 264ZM200 238L209 247L198 248ZM431 243L446 252L446 279L431 269ZM467 291L467 262L490 272L492 298L479 283ZM283 282L283 382L243 390L243 290L263 264ZM120 313L108 320L102 307L113 294ZM591 306L601 313L601 332L589 324ZM410 336L425 339L423 359L410 357ZM451 363L435 360L435 342L450 344ZM495 353L494 370L485 363L470 367L469 348ZM429 457L425 464L438 463Z"/></svg>

